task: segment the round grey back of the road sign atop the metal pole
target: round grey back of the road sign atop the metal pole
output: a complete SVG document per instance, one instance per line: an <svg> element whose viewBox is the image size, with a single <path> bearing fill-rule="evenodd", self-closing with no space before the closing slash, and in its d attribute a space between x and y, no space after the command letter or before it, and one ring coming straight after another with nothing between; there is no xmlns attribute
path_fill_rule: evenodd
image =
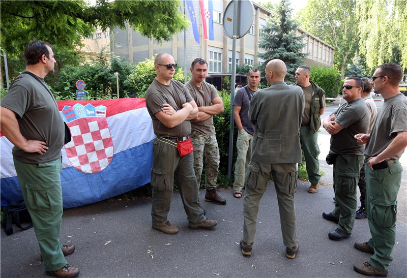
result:
<svg viewBox="0 0 407 278"><path fill-rule="evenodd" d="M235 17L235 8L237 9ZM233 39L234 35L239 39L249 32L254 19L254 9L251 1L231 1L223 14L223 30L227 37ZM234 21L237 21L236 33L233 32Z"/></svg>

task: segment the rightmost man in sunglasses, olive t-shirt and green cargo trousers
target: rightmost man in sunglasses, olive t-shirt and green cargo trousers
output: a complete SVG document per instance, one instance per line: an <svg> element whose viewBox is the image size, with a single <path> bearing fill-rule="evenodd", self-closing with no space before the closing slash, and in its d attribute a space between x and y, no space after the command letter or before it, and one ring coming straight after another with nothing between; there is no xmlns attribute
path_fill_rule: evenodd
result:
<svg viewBox="0 0 407 278"><path fill-rule="evenodd" d="M393 260L397 194L403 170L398 160L407 147L407 98L398 87L402 78L401 67L394 63L375 70L372 84L385 102L370 134L355 135L355 141L366 144L366 209L371 234L367 242L355 243L355 248L372 255L369 261L355 264L354 269L369 276L387 276Z"/></svg>

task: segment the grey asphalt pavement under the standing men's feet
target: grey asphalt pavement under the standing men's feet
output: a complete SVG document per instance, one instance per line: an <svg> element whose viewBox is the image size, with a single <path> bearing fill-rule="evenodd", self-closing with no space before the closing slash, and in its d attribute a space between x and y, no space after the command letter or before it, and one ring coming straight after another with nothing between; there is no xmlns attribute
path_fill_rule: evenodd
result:
<svg viewBox="0 0 407 278"><path fill-rule="evenodd" d="M260 203L252 256L242 256L237 242L242 237L243 199L232 190L221 190L225 206L203 201L211 230L191 230L178 192L173 195L169 220L179 228L176 235L151 228L151 199L111 199L64 211L61 241L76 245L68 262L80 268L82 277L364 277L353 264L367 261L355 241L369 238L367 220L356 220L350 239L332 241L328 232L335 224L322 218L334 207L329 168L325 186L307 193L309 183L298 183L296 193L297 258L285 258L277 199L273 183ZM328 173L327 173L328 172ZM332 178L331 178L332 179ZM405 181L405 180L404 180ZM405 184L405 183L404 183ZM405 191L402 185L400 191ZM200 191L203 200L205 191ZM407 227L397 222L397 244L389 277L407 276ZM1 232L1 276L45 276L34 230Z"/></svg>

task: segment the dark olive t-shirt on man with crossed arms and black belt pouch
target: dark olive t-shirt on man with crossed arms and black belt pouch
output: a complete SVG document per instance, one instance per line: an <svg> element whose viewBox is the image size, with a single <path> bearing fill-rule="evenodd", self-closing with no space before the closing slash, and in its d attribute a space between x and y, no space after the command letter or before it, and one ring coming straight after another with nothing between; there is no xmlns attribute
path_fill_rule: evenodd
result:
<svg viewBox="0 0 407 278"><path fill-rule="evenodd" d="M343 130L331 136L330 153L337 155L363 155L364 146L354 136L366 133L369 128L370 112L362 98L342 104L335 111L335 122Z"/></svg>

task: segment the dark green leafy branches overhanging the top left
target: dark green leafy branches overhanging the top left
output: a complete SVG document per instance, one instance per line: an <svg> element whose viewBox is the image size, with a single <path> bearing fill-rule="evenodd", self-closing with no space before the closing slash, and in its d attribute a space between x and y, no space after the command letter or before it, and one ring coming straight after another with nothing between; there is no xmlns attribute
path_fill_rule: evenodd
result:
<svg viewBox="0 0 407 278"><path fill-rule="evenodd" d="M9 56L22 53L34 39L74 49L95 27L124 28L126 22L143 36L168 41L187 26L178 6L179 1L98 0L95 6L83 0L1 1L0 45Z"/></svg>

